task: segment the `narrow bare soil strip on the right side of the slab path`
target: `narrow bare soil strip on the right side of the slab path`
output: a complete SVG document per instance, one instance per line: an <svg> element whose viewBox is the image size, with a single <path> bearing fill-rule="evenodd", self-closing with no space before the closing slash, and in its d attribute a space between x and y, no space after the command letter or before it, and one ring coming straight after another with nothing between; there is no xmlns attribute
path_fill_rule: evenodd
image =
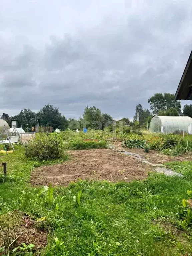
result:
<svg viewBox="0 0 192 256"><path fill-rule="evenodd" d="M114 142L113 145L118 150L128 151L131 153L139 154L148 159L148 161L152 164L163 164L166 162L174 162L174 161L192 161L191 153L189 155L183 156L167 156L165 154L160 154L155 150L150 150L149 153L145 153L141 148L124 148L122 147L122 142Z"/></svg>

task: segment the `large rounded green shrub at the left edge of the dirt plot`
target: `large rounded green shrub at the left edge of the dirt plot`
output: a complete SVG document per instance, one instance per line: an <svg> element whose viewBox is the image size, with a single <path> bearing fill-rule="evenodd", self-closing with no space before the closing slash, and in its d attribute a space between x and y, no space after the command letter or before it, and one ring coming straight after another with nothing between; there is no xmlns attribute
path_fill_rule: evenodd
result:
<svg viewBox="0 0 192 256"><path fill-rule="evenodd" d="M63 141L60 138L51 136L51 134L36 135L33 140L29 141L25 156L40 161L67 158Z"/></svg>

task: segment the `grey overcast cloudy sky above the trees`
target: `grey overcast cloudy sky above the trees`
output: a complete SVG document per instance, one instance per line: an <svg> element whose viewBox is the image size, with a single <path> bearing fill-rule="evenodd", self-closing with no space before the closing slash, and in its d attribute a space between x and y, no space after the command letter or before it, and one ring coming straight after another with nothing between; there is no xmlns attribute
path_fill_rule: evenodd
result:
<svg viewBox="0 0 192 256"><path fill-rule="evenodd" d="M176 92L191 29L191 0L1 1L0 112L50 103L78 118L95 105L132 118Z"/></svg>

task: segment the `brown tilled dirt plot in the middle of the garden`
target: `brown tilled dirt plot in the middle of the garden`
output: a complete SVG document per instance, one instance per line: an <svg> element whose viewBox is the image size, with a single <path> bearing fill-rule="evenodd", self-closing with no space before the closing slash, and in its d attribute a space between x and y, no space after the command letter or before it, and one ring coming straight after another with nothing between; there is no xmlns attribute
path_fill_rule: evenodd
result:
<svg viewBox="0 0 192 256"><path fill-rule="evenodd" d="M70 151L71 160L58 165L34 169L33 185L68 185L78 179L132 181L141 180L152 168L110 149Z"/></svg>

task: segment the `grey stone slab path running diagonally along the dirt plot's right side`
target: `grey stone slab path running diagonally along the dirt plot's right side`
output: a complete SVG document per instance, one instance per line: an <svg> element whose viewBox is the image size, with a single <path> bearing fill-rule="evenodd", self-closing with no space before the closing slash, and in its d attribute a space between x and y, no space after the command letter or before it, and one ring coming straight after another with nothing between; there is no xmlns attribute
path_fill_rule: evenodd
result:
<svg viewBox="0 0 192 256"><path fill-rule="evenodd" d="M119 149L116 149L116 147L114 145L109 145L109 148L112 149L112 150L115 150L115 151L118 151L119 153L121 154L124 154L124 155L130 155L130 156L133 156L135 157L138 161L141 161L142 163L146 163L150 166L154 166L154 167L157 167L155 168L155 171L158 172L158 173L163 173L167 176L173 176L173 175L177 175L179 177L183 177L182 174L180 173L177 173L177 172L174 172L170 169L167 169L165 168L165 166L163 164L152 164L150 163L149 161L147 161L148 159L139 155L139 154L135 154L135 153L132 153L132 152L128 152L126 150L119 150Z"/></svg>

